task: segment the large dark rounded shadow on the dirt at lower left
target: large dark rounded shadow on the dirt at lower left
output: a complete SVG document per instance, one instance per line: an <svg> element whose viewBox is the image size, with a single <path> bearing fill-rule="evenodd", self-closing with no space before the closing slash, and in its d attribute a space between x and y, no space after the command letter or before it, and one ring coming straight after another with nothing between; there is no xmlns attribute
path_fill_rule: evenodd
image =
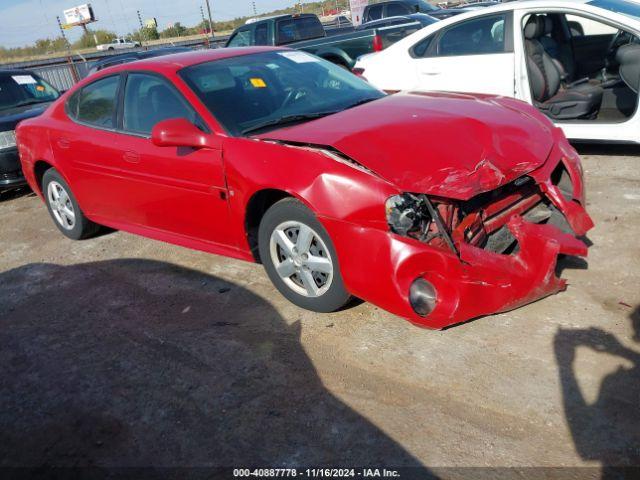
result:
<svg viewBox="0 0 640 480"><path fill-rule="evenodd" d="M0 467L421 466L238 285L127 259L26 265L0 292Z"/></svg>

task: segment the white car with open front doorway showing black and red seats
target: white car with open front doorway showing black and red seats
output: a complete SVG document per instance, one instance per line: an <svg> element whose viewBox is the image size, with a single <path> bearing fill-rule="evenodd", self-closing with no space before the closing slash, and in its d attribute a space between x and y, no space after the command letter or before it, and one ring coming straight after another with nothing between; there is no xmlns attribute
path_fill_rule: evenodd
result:
<svg viewBox="0 0 640 480"><path fill-rule="evenodd" d="M429 25L354 72L395 92L451 91L531 103L583 141L640 143L640 3L531 0Z"/></svg>

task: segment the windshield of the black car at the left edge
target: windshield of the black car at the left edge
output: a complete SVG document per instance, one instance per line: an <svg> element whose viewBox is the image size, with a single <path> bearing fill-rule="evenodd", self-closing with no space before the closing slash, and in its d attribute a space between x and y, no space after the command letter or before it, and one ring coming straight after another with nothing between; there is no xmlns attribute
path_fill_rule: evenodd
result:
<svg viewBox="0 0 640 480"><path fill-rule="evenodd" d="M0 110L52 102L59 96L55 88L34 75L0 75Z"/></svg>

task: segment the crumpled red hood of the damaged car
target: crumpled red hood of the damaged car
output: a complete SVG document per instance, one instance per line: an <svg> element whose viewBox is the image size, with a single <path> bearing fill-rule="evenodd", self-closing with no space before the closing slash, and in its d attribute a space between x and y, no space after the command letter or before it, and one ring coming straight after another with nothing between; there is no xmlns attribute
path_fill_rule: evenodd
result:
<svg viewBox="0 0 640 480"><path fill-rule="evenodd" d="M542 165L551 124L517 100L402 93L257 138L332 147L399 189L467 200Z"/></svg>

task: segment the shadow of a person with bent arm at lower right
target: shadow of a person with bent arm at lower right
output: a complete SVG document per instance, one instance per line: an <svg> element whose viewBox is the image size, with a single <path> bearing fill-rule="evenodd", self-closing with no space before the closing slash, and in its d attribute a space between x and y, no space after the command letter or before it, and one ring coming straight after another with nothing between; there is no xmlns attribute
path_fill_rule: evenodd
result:
<svg viewBox="0 0 640 480"><path fill-rule="evenodd" d="M630 315L640 342L640 306ZM600 385L595 402L589 403L573 368L576 349L588 347L625 360ZM602 465L602 478L626 478L640 474L640 352L622 345L612 334L597 328L558 330L554 340L567 423L578 454ZM631 477L629 477L631 478ZM635 477L638 478L638 477Z"/></svg>

